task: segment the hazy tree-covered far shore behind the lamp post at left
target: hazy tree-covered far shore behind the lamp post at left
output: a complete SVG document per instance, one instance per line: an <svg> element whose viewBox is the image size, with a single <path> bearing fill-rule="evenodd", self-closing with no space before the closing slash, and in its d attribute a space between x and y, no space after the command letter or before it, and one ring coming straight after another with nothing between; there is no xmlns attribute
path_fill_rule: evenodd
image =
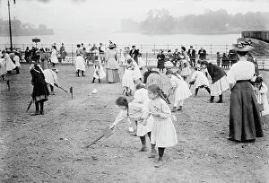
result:
<svg viewBox="0 0 269 183"><path fill-rule="evenodd" d="M19 20L13 19L11 22L12 35L13 36L41 36L41 35L53 35L53 29L47 29L46 25L40 24L39 28L35 29L30 27L29 23L22 23ZM0 36L8 37L9 22L0 19Z"/></svg>

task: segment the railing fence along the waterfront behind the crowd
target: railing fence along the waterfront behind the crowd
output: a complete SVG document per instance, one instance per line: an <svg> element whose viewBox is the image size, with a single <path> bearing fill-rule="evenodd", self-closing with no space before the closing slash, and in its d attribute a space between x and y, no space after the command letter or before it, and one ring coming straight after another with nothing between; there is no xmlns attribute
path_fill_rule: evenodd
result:
<svg viewBox="0 0 269 183"><path fill-rule="evenodd" d="M36 45L34 43L32 44L14 44L13 48L17 48L22 50L22 55L23 55L23 51L26 49L26 47L32 48L35 47ZM170 49L172 52L178 48L178 50L180 50L180 48L183 45L136 45L136 48L138 48L140 50L140 52L142 53L142 57L146 62L146 65L157 65L157 54L159 52L160 49L162 49L165 53ZM203 47L206 51L207 51L207 60L211 61L214 64L217 64L217 52L222 53L226 53L228 54L231 48L231 45L212 45L212 44L208 44L208 45L184 45L184 47L186 47L187 49L193 46L194 49L196 50L196 53L198 52L198 49ZM108 45L104 45L105 48L108 47ZM120 61L122 61L122 59L125 59L124 57L124 50L126 47L131 48L132 45L117 45L117 53L118 53L118 57L120 59ZM259 46L261 48L256 48L257 50L260 49L264 49L266 51L269 50L269 46ZM4 48L9 48L9 44L0 44L0 49L3 50ZM39 44L38 48L51 48L51 45L49 44ZM57 47L57 49L59 49L59 47ZM75 50L76 50L76 45L74 44L65 44L65 51L67 52L67 57L65 59L65 61L63 63L65 64L74 64L74 59L75 59ZM196 55L196 58L198 56ZM256 52L255 55L259 68L260 69L269 69L269 51L268 54L266 55L262 55L259 52ZM90 57L88 57L88 62L91 63L93 59L93 54L91 54ZM222 63L221 63L222 64ZM232 63L229 62L229 64L226 64L227 66L230 67Z"/></svg>

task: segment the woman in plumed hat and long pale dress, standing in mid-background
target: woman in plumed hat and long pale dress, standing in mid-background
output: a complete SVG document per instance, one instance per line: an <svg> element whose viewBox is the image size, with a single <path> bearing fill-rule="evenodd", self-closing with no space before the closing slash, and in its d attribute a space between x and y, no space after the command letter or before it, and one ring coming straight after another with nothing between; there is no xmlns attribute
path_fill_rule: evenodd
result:
<svg viewBox="0 0 269 183"><path fill-rule="evenodd" d="M118 76L118 64L117 64L117 51L115 44L110 43L107 51L106 60L108 63L107 66L107 81L108 83L117 83L119 82Z"/></svg>

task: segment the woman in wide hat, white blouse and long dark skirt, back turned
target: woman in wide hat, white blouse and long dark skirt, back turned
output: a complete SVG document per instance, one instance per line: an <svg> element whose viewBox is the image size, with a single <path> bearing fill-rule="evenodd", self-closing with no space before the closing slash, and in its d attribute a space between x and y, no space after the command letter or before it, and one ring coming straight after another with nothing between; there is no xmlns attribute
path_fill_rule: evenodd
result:
<svg viewBox="0 0 269 183"><path fill-rule="evenodd" d="M247 52L253 49L239 43L233 50L239 55L239 62L230 67L230 140L239 142L255 141L263 136L263 129L256 96L251 84L254 80L255 65L247 61Z"/></svg>

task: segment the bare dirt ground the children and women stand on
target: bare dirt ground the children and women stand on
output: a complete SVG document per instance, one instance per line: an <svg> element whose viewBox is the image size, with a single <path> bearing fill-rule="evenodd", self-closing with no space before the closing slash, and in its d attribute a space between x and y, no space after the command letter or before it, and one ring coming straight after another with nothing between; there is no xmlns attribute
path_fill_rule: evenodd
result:
<svg viewBox="0 0 269 183"><path fill-rule="evenodd" d="M129 134L127 123L82 148L116 118L121 83L91 84L92 67L86 77L75 77L72 65L56 67L60 85L74 87L74 99L56 88L45 115L30 116L34 105L25 112L32 91L29 65L7 76L10 91L0 82L1 182L269 182L268 118L265 137L255 143L228 141L230 92L222 104L207 103L204 90L185 101L174 122L179 142L166 149L164 166L156 169L149 152L138 152L140 140ZM269 72L262 74L269 86ZM91 94L94 88L97 94Z"/></svg>

